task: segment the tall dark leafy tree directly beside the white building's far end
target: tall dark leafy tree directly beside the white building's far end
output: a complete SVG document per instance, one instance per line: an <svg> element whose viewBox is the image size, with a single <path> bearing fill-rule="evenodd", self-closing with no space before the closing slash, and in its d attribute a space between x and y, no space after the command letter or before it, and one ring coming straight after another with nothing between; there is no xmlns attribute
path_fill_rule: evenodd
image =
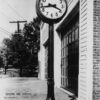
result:
<svg viewBox="0 0 100 100"><path fill-rule="evenodd" d="M41 20L37 17L33 19L32 22L25 24L23 29L25 45L31 53L29 61L31 73L35 73L38 69L38 51L40 49L40 23Z"/></svg>

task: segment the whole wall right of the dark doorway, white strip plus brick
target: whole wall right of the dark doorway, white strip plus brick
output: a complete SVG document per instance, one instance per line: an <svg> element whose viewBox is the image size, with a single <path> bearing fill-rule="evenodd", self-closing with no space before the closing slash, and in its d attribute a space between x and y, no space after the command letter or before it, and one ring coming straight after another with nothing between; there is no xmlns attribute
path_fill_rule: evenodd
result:
<svg viewBox="0 0 100 100"><path fill-rule="evenodd" d="M100 100L100 0L80 0L79 100Z"/></svg>

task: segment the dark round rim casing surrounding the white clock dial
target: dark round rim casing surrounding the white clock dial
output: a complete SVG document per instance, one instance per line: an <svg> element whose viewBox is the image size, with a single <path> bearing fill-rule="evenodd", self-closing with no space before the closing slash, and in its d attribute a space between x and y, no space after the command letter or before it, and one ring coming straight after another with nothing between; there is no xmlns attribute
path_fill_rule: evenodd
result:
<svg viewBox="0 0 100 100"><path fill-rule="evenodd" d="M66 3L66 10L64 12L64 14L59 17L59 18L56 18L56 19L50 19L50 18L47 18L46 16L44 16L41 11L40 11L40 7L39 7L39 3L40 3L41 0L36 0L36 13L37 15L41 18L41 20L43 20L44 22L46 23L57 23L59 22L66 14L67 12L67 9L68 9L68 6L67 6L67 1L65 0L65 3Z"/></svg>

